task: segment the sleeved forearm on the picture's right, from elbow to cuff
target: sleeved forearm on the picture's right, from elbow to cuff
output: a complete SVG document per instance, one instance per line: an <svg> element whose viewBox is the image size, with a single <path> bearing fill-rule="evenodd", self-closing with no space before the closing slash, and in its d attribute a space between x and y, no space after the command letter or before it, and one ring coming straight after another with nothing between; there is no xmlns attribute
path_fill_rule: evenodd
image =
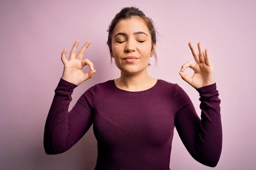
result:
<svg viewBox="0 0 256 170"><path fill-rule="evenodd" d="M215 167L222 150L221 100L215 85L208 87L199 89L201 122L193 154L202 164Z"/></svg>

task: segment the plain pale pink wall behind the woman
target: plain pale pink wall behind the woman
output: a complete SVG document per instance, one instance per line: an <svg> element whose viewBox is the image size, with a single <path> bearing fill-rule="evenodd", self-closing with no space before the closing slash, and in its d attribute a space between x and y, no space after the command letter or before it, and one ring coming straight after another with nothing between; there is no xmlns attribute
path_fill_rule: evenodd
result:
<svg viewBox="0 0 256 170"><path fill-rule="evenodd" d="M91 41L84 58L94 63L97 72L75 89L70 108L87 88L119 76L118 68L110 64L107 28L125 6L140 7L161 34L158 64L154 66L151 58L148 73L178 83L198 115L199 94L178 72L187 61L194 62L189 41L208 48L223 126L223 149L215 169L255 170L255 0L1 1L0 170L93 170L97 147L92 128L70 150L52 156L44 153L44 124L63 71L61 51L67 48L69 54L77 39L79 50ZM193 74L190 68L186 73ZM176 129L170 167L212 169L189 155Z"/></svg>

